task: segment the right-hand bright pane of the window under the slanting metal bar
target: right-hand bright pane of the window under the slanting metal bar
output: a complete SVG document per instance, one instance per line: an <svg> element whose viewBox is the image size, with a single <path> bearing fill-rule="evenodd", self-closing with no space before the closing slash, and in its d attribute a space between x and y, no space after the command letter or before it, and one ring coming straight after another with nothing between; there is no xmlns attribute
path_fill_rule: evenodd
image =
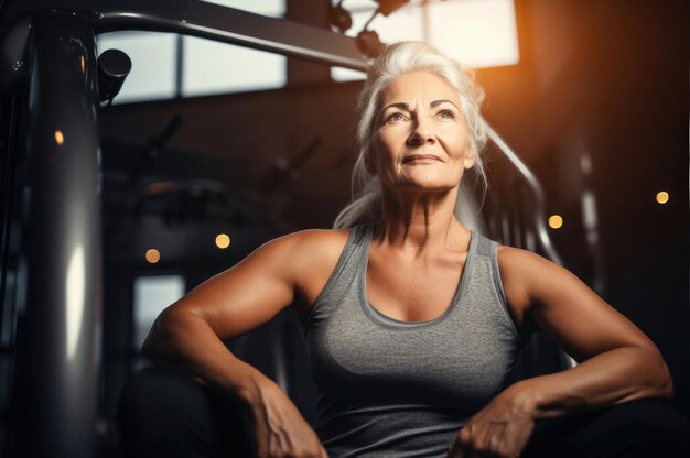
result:
<svg viewBox="0 0 690 458"><path fill-rule="evenodd" d="M185 36L183 59L184 97L285 86L287 59L278 54Z"/></svg>

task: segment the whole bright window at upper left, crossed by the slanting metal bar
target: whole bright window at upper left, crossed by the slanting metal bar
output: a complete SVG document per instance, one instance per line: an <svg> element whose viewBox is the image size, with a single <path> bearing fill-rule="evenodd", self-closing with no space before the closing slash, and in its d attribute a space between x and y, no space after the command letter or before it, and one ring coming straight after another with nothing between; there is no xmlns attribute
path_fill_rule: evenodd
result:
<svg viewBox="0 0 690 458"><path fill-rule="evenodd" d="M280 18L284 0L213 0ZM114 103L274 89L285 85L282 55L174 33L118 31L98 35L98 53L125 52L132 69Z"/></svg>

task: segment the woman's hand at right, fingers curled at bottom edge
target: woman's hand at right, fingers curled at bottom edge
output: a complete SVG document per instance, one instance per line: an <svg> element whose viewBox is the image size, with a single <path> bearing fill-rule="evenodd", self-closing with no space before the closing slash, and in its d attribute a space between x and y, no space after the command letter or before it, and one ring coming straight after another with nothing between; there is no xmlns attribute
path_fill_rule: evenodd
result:
<svg viewBox="0 0 690 458"><path fill-rule="evenodd" d="M460 430L448 457L519 457L535 428L533 412L525 396L504 391Z"/></svg>

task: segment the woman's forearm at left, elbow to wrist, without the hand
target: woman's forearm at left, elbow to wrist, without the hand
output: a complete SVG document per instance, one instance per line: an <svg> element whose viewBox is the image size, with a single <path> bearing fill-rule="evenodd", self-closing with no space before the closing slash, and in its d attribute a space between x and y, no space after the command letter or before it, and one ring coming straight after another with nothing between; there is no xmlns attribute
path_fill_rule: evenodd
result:
<svg viewBox="0 0 690 458"><path fill-rule="evenodd" d="M265 379L259 370L227 349L197 314L170 309L159 316L142 351L152 362L188 371L196 380L244 394Z"/></svg>

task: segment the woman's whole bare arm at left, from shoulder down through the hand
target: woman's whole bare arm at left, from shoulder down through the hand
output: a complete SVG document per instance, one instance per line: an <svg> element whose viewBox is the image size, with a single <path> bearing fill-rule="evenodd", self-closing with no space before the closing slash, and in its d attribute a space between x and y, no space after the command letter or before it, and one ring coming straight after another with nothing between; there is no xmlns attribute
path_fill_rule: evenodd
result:
<svg viewBox="0 0 690 458"><path fill-rule="evenodd" d="M268 242L207 280L157 318L143 344L157 364L190 372L249 407L260 457L325 457L316 434L272 380L236 358L223 340L241 336L292 303L305 275L309 232Z"/></svg>

